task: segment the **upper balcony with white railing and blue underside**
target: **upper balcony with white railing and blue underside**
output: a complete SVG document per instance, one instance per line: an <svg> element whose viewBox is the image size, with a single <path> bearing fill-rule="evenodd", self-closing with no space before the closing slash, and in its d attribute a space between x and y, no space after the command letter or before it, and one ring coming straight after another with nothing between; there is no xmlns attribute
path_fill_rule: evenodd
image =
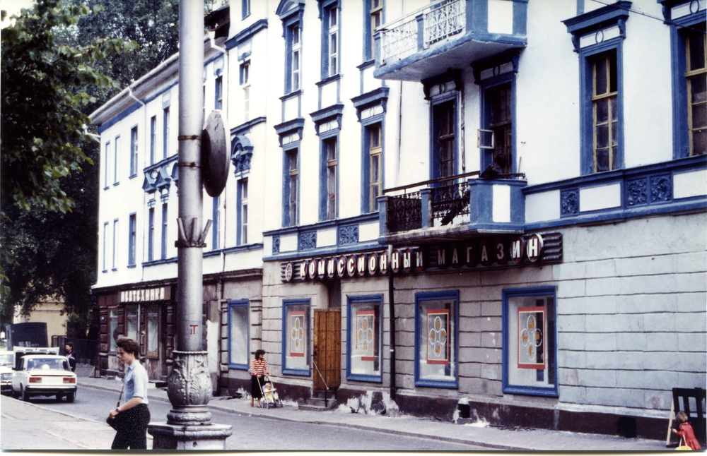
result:
<svg viewBox="0 0 707 456"><path fill-rule="evenodd" d="M382 25L375 77L419 81L525 47L527 0L441 0Z"/></svg>

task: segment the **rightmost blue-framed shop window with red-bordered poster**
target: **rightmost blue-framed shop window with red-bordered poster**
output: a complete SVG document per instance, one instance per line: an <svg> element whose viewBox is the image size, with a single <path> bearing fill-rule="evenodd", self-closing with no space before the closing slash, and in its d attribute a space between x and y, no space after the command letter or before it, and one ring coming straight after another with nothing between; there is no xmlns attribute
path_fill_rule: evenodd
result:
<svg viewBox="0 0 707 456"><path fill-rule="evenodd" d="M503 392L557 396L555 287L503 290Z"/></svg>

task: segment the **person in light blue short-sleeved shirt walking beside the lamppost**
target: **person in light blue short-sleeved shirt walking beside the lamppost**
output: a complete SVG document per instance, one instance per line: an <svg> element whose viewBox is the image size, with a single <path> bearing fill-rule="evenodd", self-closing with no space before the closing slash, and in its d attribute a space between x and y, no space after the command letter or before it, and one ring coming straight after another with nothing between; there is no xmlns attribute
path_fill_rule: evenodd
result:
<svg viewBox="0 0 707 456"><path fill-rule="evenodd" d="M117 428L111 450L146 450L147 425L150 423L150 409L147 407L147 387L149 379L147 371L139 361L139 345L136 340L121 337L117 341L118 359L127 366L123 378L125 388L125 403L112 409L110 416L118 414L122 424Z"/></svg>

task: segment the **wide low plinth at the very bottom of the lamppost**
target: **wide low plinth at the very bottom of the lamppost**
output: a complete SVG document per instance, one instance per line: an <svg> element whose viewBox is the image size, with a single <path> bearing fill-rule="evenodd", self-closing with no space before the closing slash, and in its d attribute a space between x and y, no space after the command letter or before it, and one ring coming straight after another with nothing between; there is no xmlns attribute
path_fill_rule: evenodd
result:
<svg viewBox="0 0 707 456"><path fill-rule="evenodd" d="M151 423L147 431L153 437L153 450L226 450L226 438L233 433L233 426Z"/></svg>

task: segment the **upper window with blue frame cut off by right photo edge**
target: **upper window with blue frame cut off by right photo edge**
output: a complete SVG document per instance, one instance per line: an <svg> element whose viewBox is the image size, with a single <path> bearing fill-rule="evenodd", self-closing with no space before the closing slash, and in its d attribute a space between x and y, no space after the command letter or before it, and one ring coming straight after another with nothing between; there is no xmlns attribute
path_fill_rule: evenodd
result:
<svg viewBox="0 0 707 456"><path fill-rule="evenodd" d="M707 149L705 8L697 1L660 0L670 24L673 157Z"/></svg>

